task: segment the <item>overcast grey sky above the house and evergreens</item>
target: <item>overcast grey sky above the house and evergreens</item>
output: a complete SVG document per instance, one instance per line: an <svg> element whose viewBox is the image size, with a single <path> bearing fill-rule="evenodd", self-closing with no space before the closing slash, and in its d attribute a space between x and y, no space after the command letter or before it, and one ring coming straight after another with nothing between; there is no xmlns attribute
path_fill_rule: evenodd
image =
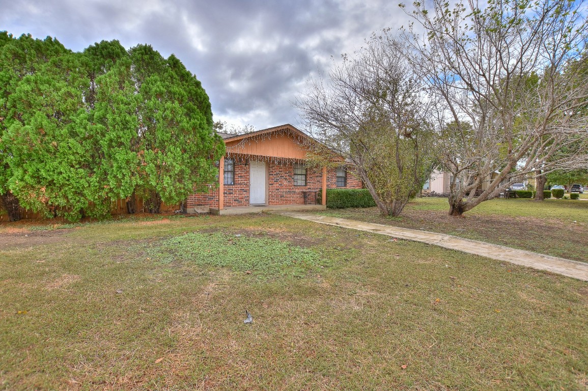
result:
<svg viewBox="0 0 588 391"><path fill-rule="evenodd" d="M215 121L298 124L290 101L330 57L408 18L400 0L0 0L0 30L81 51L118 39L175 54L208 93ZM410 3L410 2L409 2Z"/></svg>

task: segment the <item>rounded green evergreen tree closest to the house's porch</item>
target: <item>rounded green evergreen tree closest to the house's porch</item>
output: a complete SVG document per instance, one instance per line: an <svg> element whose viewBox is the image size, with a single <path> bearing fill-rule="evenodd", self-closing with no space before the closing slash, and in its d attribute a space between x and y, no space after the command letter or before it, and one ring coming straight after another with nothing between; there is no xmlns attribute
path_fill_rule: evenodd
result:
<svg viewBox="0 0 588 391"><path fill-rule="evenodd" d="M206 92L175 57L139 45L97 79L95 119L102 126L113 196L142 195L150 212L215 181L224 153L212 129Z"/></svg>

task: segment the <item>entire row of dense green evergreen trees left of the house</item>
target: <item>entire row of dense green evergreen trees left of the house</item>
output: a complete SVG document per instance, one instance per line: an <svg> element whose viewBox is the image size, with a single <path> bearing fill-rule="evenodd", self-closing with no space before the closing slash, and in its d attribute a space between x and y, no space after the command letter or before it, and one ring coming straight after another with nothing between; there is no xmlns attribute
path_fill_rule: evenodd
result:
<svg viewBox="0 0 588 391"><path fill-rule="evenodd" d="M6 205L76 220L137 194L159 212L213 182L224 144L201 83L175 56L118 41L74 53L2 33L0 65Z"/></svg>

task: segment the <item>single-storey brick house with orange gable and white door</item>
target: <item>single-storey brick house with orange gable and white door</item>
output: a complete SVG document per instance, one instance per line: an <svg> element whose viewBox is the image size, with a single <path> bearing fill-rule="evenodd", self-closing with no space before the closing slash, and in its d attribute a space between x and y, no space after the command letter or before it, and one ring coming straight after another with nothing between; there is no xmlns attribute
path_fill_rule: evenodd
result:
<svg viewBox="0 0 588 391"><path fill-rule="evenodd" d="M225 142L226 154L219 161L218 186L211 185L208 193L190 195L186 202L189 213L325 209L326 189L363 187L343 165L307 166L304 142L310 138L292 125L243 135L219 135ZM322 199L317 199L320 190ZM255 208L259 206L262 208Z"/></svg>

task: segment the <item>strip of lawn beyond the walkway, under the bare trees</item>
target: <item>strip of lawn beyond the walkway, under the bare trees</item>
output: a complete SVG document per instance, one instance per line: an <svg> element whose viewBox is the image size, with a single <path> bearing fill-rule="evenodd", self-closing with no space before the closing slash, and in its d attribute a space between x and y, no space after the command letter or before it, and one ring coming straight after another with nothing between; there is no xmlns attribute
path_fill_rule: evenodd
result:
<svg viewBox="0 0 588 391"><path fill-rule="evenodd" d="M447 233L547 255L588 262L588 202L493 199L462 217L448 216L446 198L417 198L398 218L377 208L328 209L322 215Z"/></svg>

